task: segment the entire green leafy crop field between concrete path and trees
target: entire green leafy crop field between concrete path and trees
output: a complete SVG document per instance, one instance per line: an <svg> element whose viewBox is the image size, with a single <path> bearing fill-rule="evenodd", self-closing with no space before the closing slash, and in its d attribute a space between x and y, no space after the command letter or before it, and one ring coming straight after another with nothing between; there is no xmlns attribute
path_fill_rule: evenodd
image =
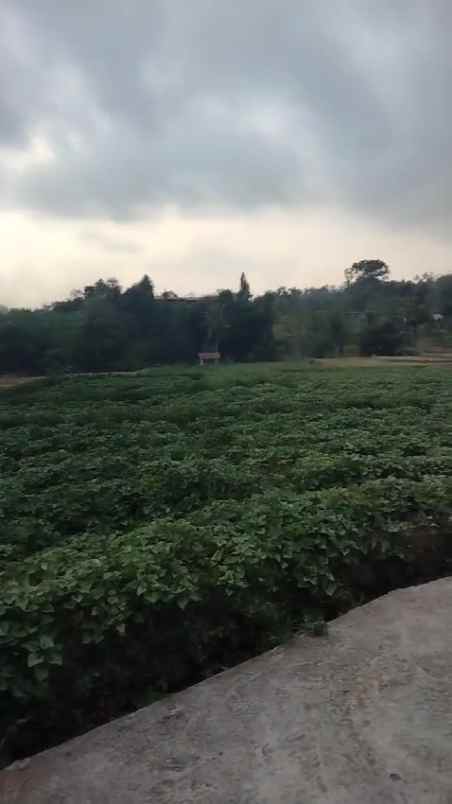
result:
<svg viewBox="0 0 452 804"><path fill-rule="evenodd" d="M5 761L451 571L447 368L37 382L0 468Z"/></svg>

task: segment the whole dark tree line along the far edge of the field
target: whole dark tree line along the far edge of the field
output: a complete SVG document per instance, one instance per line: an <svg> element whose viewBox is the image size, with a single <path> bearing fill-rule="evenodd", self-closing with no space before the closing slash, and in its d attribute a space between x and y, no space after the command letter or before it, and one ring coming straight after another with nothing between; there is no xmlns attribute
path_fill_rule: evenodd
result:
<svg viewBox="0 0 452 804"><path fill-rule="evenodd" d="M190 363L199 351L260 361L344 354L408 354L452 346L452 274L390 278L361 260L340 287L281 287L158 296L145 275L127 289L99 279L40 309L0 307L0 373L135 370Z"/></svg>

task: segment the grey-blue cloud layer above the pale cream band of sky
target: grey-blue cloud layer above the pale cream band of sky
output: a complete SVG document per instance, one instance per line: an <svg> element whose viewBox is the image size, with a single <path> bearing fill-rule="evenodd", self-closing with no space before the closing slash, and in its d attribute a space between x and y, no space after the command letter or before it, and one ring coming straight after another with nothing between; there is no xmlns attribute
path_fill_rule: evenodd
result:
<svg viewBox="0 0 452 804"><path fill-rule="evenodd" d="M10 176L11 204L122 219L324 203L449 230L448 0L0 13L0 145L39 136L54 154Z"/></svg>

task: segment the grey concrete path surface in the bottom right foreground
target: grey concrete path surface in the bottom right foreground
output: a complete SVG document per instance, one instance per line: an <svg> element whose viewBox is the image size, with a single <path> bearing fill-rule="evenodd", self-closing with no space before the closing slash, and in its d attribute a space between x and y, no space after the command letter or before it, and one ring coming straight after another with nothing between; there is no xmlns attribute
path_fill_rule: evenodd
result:
<svg viewBox="0 0 452 804"><path fill-rule="evenodd" d="M0 774L1 804L452 804L452 578Z"/></svg>

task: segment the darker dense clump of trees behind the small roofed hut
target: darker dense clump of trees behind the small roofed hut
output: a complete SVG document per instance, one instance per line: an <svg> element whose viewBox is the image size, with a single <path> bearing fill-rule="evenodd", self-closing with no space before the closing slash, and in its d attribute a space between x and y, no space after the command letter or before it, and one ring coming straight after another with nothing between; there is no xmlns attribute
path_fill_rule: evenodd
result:
<svg viewBox="0 0 452 804"><path fill-rule="evenodd" d="M0 373L137 370L192 363L220 348L226 360L272 359L273 307L253 300L244 274L237 293L181 299L154 294L144 276L123 291L99 279L42 310L0 315Z"/></svg>

